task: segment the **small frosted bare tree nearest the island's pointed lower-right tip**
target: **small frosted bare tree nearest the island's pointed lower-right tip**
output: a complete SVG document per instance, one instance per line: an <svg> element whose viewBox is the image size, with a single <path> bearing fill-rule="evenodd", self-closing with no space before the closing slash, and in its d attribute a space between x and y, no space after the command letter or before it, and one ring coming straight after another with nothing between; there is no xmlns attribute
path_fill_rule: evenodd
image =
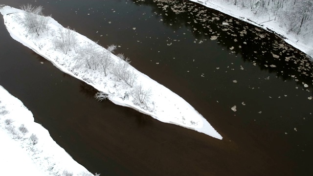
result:
<svg viewBox="0 0 313 176"><path fill-rule="evenodd" d="M134 86L133 97L135 104L142 104L148 107L148 102L150 97L152 96L151 88L145 89L142 84Z"/></svg>

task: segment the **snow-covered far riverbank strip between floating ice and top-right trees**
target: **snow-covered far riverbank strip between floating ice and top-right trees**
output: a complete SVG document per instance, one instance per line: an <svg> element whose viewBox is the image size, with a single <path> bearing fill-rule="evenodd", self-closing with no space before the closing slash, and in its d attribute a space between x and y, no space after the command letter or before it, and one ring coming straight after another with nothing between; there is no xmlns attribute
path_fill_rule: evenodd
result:
<svg viewBox="0 0 313 176"><path fill-rule="evenodd" d="M249 8L250 4L246 4L245 7L241 5L238 0L237 5L234 5L233 1L224 0L190 0L200 3L206 7L218 10L224 14L240 19L244 22L251 23L258 27L261 27L269 32L274 32L278 36L282 37L288 44L291 44L295 48L308 54L313 58L313 41L308 40L306 36L297 35L294 32L288 32L286 26L282 25L282 22L275 21L275 14L267 15L254 14ZM254 3L257 3L256 0ZM310 31L308 31L310 32ZM312 30L311 30L312 32Z"/></svg>

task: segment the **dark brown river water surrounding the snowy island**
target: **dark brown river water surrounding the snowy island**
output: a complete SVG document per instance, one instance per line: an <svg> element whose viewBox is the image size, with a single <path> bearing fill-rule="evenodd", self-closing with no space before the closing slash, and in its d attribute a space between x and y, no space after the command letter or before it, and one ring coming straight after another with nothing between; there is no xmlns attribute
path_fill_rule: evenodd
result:
<svg viewBox="0 0 313 176"><path fill-rule="evenodd" d="M313 175L312 64L275 35L183 0L1 3L42 5L62 25L120 46L115 53L183 97L224 137L96 101L95 89L14 41L0 20L0 85L90 172Z"/></svg>

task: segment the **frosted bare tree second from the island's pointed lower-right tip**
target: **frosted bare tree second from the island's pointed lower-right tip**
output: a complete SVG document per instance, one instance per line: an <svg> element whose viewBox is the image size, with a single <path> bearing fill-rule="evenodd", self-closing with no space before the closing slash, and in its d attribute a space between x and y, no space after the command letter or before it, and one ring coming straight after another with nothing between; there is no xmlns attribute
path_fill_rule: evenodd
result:
<svg viewBox="0 0 313 176"><path fill-rule="evenodd" d="M131 88L134 85L138 75L134 72L134 68L130 68L130 61L124 55L118 55L120 59L112 67L112 74L120 81L126 83Z"/></svg>

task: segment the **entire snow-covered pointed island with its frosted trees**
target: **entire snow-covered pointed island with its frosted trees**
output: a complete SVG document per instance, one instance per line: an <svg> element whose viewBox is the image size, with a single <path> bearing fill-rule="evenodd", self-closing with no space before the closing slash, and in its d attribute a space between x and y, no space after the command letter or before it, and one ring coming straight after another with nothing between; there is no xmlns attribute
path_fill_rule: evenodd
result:
<svg viewBox="0 0 313 176"><path fill-rule="evenodd" d="M133 108L161 122L223 138L189 103L136 70L128 58L113 55L111 51L115 46L105 49L51 17L42 16L41 9L36 11L38 9L31 6L25 6L25 9L35 14L10 6L2 7L1 14L11 37L67 74L98 89L98 99L108 98L117 105ZM37 18L35 21L40 23L24 23L27 18Z"/></svg>

